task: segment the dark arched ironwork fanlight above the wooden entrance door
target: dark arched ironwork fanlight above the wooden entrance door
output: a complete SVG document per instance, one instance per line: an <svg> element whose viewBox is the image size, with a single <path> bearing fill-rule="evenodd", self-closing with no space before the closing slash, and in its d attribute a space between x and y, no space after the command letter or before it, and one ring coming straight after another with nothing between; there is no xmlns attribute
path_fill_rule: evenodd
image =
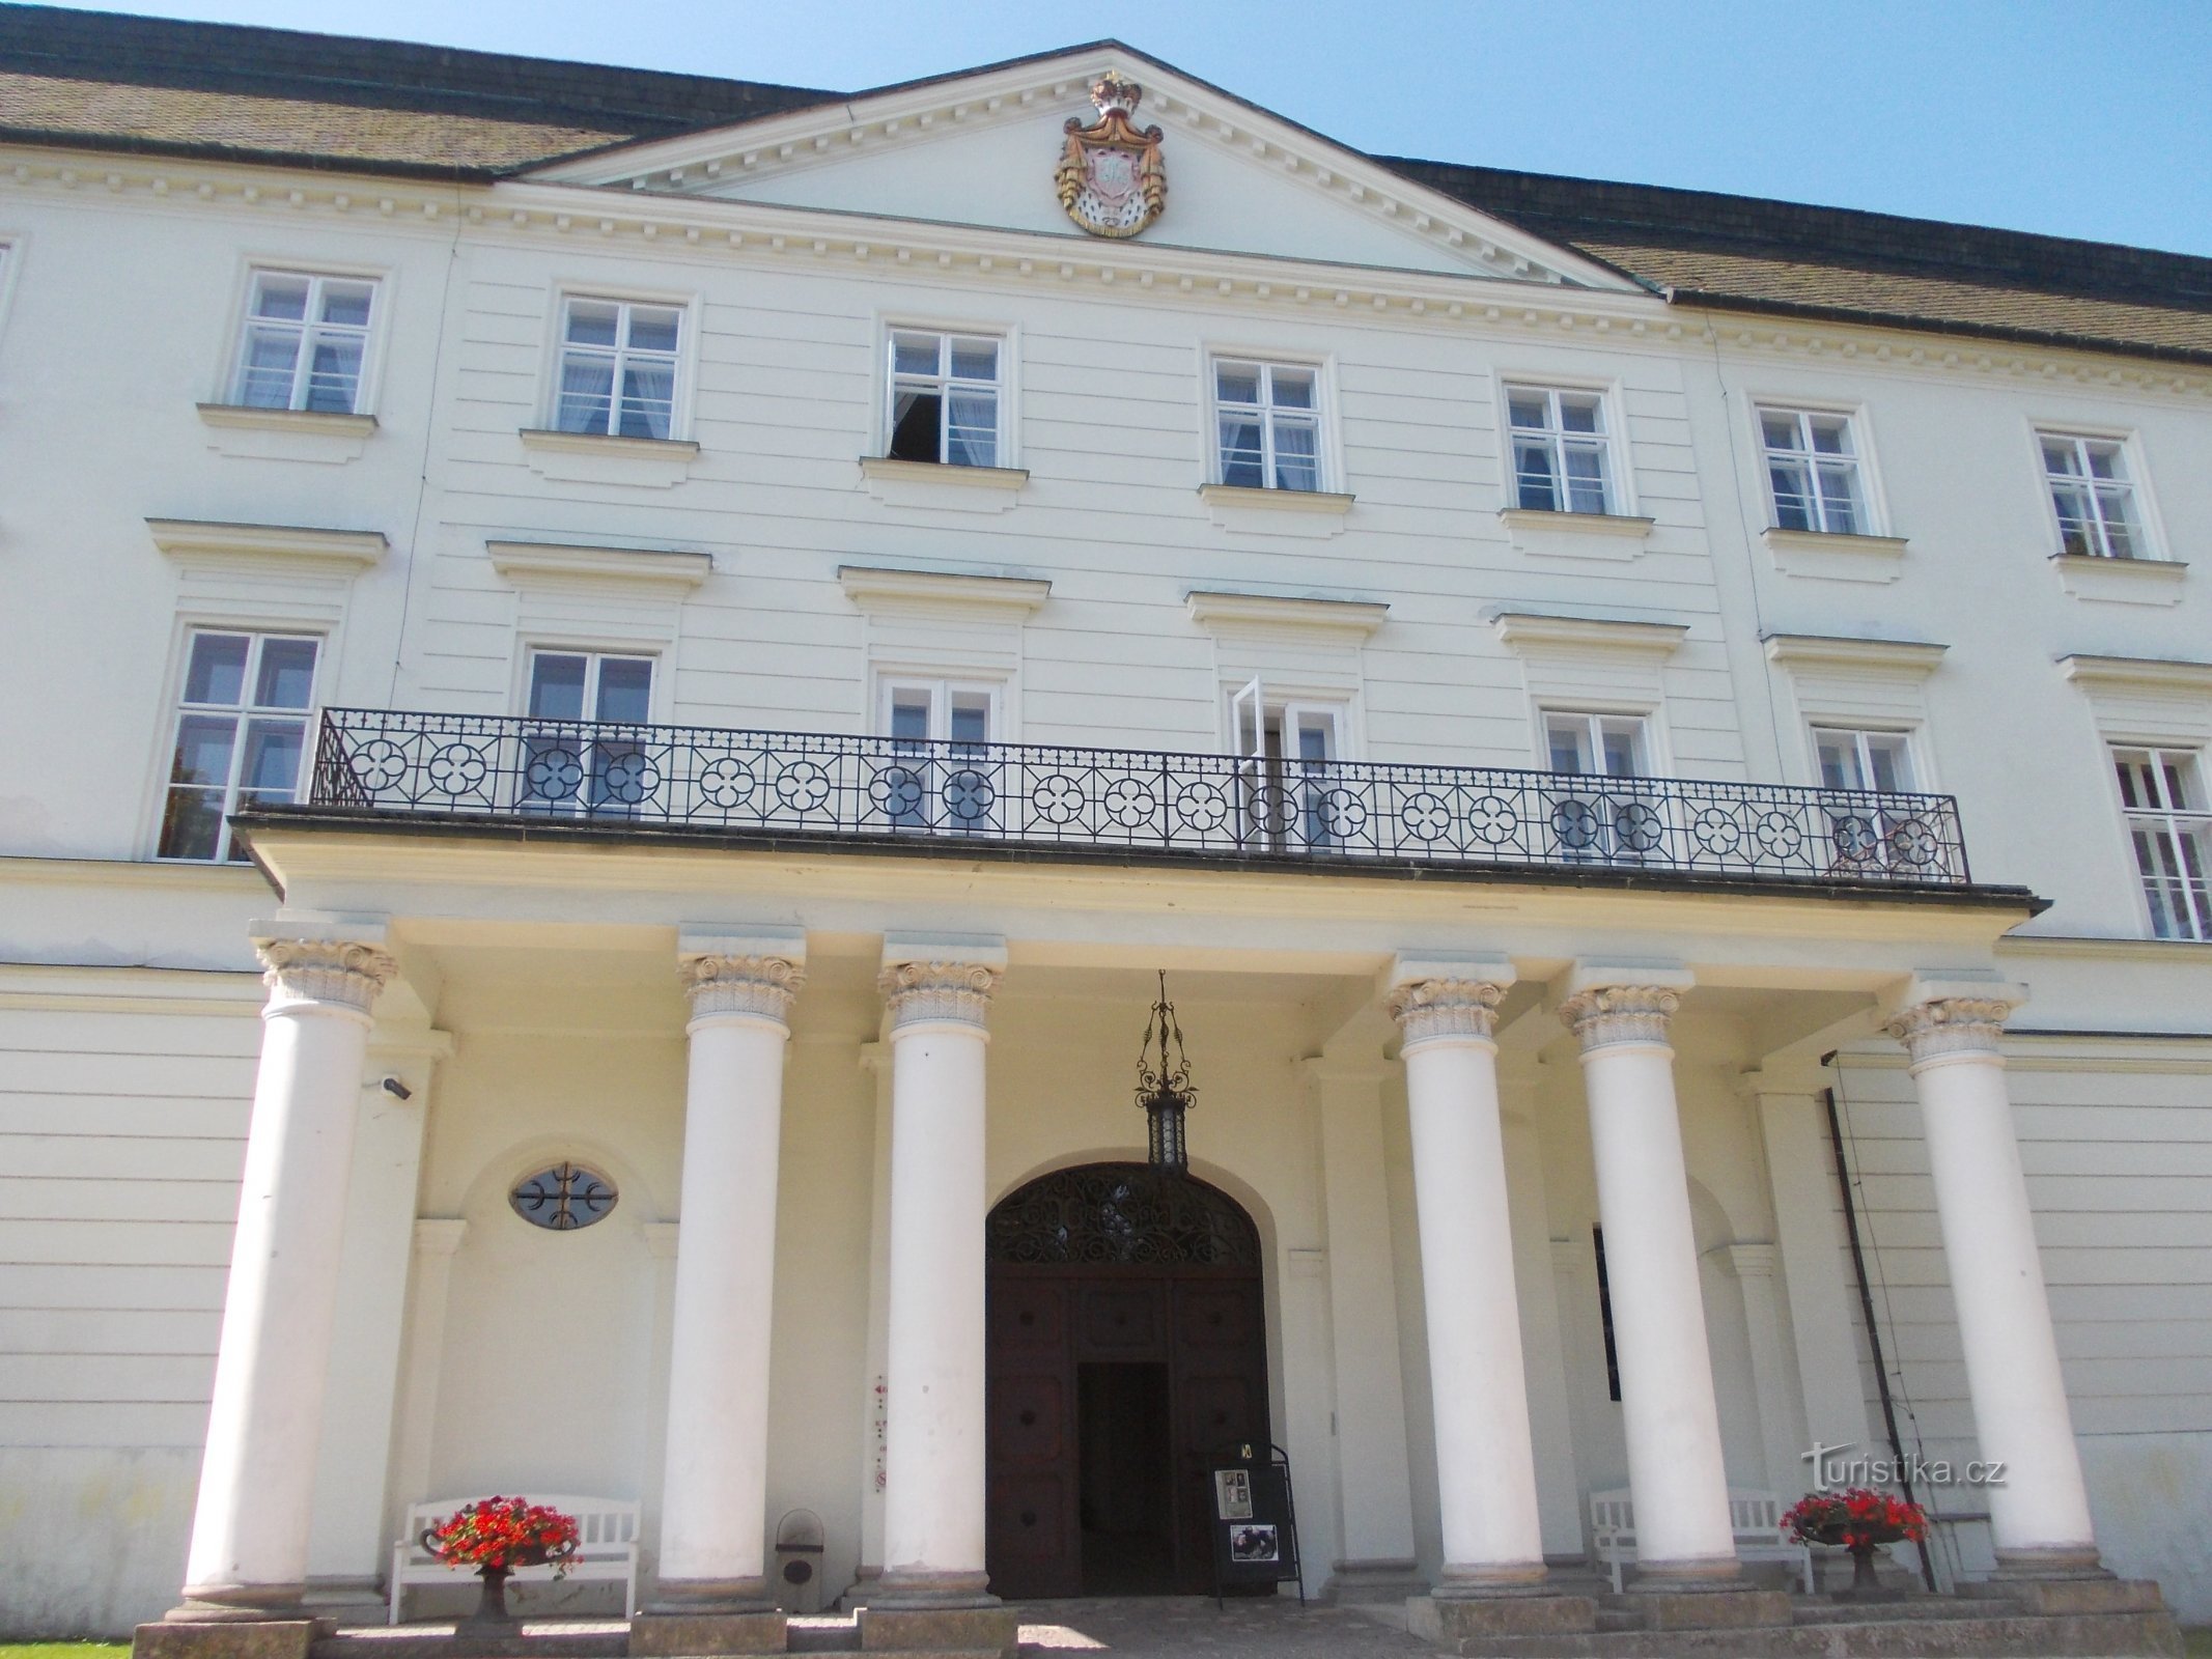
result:
<svg viewBox="0 0 2212 1659"><path fill-rule="evenodd" d="M1082 1164L1009 1192L984 1221L998 1263L1250 1267L1259 1228L1219 1188L1148 1164Z"/></svg>

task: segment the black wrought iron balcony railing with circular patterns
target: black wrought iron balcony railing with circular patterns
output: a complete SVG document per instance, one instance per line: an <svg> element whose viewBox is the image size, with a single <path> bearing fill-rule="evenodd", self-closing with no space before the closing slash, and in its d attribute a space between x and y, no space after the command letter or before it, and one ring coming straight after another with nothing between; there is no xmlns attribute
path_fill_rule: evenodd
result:
<svg viewBox="0 0 2212 1659"><path fill-rule="evenodd" d="M1964 887L1940 794L334 708L310 807L1305 865Z"/></svg>

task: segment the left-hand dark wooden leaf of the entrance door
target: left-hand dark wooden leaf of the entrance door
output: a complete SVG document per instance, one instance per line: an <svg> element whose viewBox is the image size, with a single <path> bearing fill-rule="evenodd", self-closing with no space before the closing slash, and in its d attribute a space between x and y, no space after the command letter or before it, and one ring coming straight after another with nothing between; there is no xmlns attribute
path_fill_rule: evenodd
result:
<svg viewBox="0 0 2212 1659"><path fill-rule="evenodd" d="M1066 1279L991 1274L984 1551L991 1593L1077 1595L1075 1365Z"/></svg>

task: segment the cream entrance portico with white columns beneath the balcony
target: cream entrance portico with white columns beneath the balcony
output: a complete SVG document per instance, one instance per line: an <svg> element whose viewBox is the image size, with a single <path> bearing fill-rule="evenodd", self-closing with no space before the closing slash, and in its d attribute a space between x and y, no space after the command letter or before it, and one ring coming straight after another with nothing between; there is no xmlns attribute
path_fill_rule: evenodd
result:
<svg viewBox="0 0 2212 1659"><path fill-rule="evenodd" d="M316 1396L338 1217L296 1197L343 1170L303 1161L288 1130L341 1133L376 1086L374 1000L398 987L405 1018L453 1042L429 1088L418 1228L460 1243L418 1259L409 1318L387 1332L411 1378L392 1400L398 1451L385 1491L352 1502L389 1515L562 1478L637 1498L650 1617L633 1639L670 1652L781 1644L774 1528L810 1509L878 1641L929 1619L995 1641L984 1212L1046 1170L1144 1157L1126 1071L1155 967L1208 1084L1192 1170L1261 1234L1265 1416L1298 1480L1312 1590L1358 1593L1396 1537L1413 1562L1394 1571L1462 1608L1447 1621L1588 1628L1590 1604L1553 1573L1582 1555L1586 1493L1628 1484L1650 1517L1646 1595L1734 1590L1714 1621L1776 1617L1776 1593L1739 1568L1728 1491L1803 1491L1803 1471L1774 1467L1792 1425L1767 1416L1812 1396L1805 1340L1785 1349L1712 1267L1778 1237L1756 1152L1772 1095L1741 1079L1781 1088L1809 1053L1885 1029L1929 1115L1975 1420L2020 1471L2000 1562L2099 1571L2006 1161L1997 1035L2022 993L1984 962L2015 900L588 838L500 856L495 836L279 818L257 825L257 852L288 905L263 947L250 1168L274 1172L254 1250L301 1283L281 1301L234 1272L252 1294L226 1314L217 1422L252 1431L221 1464L210 1451L179 1619L299 1617L305 1562L230 1542L250 1544L272 1504L325 1504L312 1449L347 1433ZM319 1020L330 1040L292 1035ZM619 1190L606 1223L515 1221L509 1186L553 1155ZM425 1312L440 1294L442 1321ZM1338 1325L1374 1294L1398 1340L1347 1365ZM1794 1312L1794 1279L1783 1294ZM471 1378L529 1374L515 1334L577 1314L628 1336L533 1385L573 1389L560 1411L608 1425L577 1447L595 1464L562 1475ZM1400 1436L1405 1460L1347 1455L1360 1436ZM232 1464L252 1478L212 1478ZM206 1566L210 1551L228 1555Z"/></svg>

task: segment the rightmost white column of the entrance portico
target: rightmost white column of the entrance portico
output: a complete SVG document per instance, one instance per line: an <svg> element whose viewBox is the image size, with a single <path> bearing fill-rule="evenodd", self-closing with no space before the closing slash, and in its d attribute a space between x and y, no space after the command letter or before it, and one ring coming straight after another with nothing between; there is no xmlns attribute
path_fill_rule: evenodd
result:
<svg viewBox="0 0 2212 1659"><path fill-rule="evenodd" d="M1982 1458L2004 1464L2004 1482L1984 1489L1997 1571L2095 1571L2097 1535L1997 1048L2024 993L1997 982L1944 989L1918 982L1889 1035L1911 1053L1920 1088L1973 1433Z"/></svg>

